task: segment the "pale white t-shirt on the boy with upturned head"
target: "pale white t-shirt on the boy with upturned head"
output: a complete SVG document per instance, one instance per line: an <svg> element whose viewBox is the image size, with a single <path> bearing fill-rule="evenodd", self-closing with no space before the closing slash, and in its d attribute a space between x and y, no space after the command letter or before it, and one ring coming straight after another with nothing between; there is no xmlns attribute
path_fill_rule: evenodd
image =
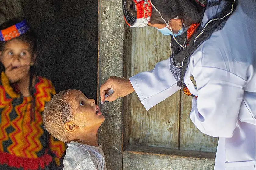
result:
<svg viewBox="0 0 256 170"><path fill-rule="evenodd" d="M72 141L67 145L63 170L107 170L100 144L94 147Z"/></svg>

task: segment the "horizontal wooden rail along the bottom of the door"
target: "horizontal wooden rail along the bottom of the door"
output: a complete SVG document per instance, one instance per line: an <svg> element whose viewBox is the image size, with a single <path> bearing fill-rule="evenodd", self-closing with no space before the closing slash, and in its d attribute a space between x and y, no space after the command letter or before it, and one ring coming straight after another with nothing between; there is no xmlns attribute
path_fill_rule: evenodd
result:
<svg viewBox="0 0 256 170"><path fill-rule="evenodd" d="M123 152L123 170L211 170L215 154L128 146Z"/></svg>

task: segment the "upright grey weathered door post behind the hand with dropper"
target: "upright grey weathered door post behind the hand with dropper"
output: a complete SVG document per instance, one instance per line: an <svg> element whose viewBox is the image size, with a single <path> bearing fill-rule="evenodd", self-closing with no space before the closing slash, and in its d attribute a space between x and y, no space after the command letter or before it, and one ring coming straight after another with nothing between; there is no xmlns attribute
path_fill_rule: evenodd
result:
<svg viewBox="0 0 256 170"><path fill-rule="evenodd" d="M123 77L124 19L121 1L99 1L98 85L110 76ZM101 106L105 122L98 131L108 170L122 169L123 99Z"/></svg>

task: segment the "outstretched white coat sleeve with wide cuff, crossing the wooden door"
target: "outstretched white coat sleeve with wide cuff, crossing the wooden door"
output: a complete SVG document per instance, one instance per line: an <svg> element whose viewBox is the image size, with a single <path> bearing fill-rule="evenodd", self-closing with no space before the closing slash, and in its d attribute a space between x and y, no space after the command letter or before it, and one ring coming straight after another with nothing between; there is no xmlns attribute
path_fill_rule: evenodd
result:
<svg viewBox="0 0 256 170"><path fill-rule="evenodd" d="M170 58L158 62L151 71L132 76L130 82L147 110L180 90L170 70Z"/></svg>

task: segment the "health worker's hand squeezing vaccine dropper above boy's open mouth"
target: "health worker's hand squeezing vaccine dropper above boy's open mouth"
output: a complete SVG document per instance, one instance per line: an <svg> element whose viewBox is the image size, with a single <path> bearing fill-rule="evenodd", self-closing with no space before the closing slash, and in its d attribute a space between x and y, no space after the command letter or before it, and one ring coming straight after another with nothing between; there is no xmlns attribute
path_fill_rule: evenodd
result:
<svg viewBox="0 0 256 170"><path fill-rule="evenodd" d="M114 90L114 93L105 98L106 91L110 89ZM100 87L101 101L114 101L119 97L127 96L134 91L133 86L129 79L111 76Z"/></svg>

